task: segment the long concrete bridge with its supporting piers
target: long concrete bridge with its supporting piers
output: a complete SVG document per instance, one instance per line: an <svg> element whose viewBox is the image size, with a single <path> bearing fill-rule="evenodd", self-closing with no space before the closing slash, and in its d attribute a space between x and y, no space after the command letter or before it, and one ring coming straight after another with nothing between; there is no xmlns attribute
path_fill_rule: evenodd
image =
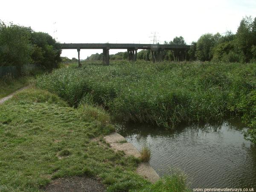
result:
<svg viewBox="0 0 256 192"><path fill-rule="evenodd" d="M80 63L81 49L102 49L103 50L103 64L109 65L109 49L127 49L129 61L137 60L138 49L150 49L152 61L157 62L162 60L163 50L173 50L175 52L185 51L189 49L190 45L169 45L169 44L60 44L61 49L77 49L78 63Z"/></svg>

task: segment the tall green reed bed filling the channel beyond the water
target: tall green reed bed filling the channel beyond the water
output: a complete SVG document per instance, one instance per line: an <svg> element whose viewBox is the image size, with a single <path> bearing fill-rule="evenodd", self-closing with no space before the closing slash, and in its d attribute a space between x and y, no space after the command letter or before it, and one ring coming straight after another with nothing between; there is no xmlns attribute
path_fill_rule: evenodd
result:
<svg viewBox="0 0 256 192"><path fill-rule="evenodd" d="M86 64L41 76L37 86L71 106L96 103L116 119L173 127L242 116L256 126L256 64L187 62Z"/></svg>

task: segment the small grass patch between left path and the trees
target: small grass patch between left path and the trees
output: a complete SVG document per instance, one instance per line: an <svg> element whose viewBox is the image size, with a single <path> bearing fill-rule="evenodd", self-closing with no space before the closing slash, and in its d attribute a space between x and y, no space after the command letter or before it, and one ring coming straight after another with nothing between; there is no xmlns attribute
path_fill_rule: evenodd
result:
<svg viewBox="0 0 256 192"><path fill-rule="evenodd" d="M29 85L34 80L32 76L20 77L17 79L5 77L0 79L0 99L8 96L16 90Z"/></svg>

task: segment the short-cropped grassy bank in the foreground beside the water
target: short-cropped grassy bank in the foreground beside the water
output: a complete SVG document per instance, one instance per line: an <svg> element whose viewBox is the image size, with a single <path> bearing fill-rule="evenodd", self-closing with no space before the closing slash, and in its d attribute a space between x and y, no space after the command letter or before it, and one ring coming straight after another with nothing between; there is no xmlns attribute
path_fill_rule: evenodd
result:
<svg viewBox="0 0 256 192"><path fill-rule="evenodd" d="M100 108L74 109L47 91L29 89L0 111L1 192L41 191L72 175L99 178L108 191L151 186L135 173L138 159L114 152L102 139L114 129Z"/></svg>

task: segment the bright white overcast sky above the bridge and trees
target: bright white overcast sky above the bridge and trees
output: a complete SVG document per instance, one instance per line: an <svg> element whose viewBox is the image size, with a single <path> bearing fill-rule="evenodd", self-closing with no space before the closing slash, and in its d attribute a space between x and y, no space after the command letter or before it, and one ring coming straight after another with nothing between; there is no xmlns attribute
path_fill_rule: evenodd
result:
<svg viewBox="0 0 256 192"><path fill-rule="evenodd" d="M1 0L0 20L47 32L61 43L149 43L204 33L236 33L244 16L256 17L256 0ZM57 30L57 32L55 32ZM152 43L152 41L151 41ZM110 50L110 54L120 50ZM121 50L122 51L122 50ZM81 59L102 50L81 49ZM77 51L63 50L76 57Z"/></svg>

